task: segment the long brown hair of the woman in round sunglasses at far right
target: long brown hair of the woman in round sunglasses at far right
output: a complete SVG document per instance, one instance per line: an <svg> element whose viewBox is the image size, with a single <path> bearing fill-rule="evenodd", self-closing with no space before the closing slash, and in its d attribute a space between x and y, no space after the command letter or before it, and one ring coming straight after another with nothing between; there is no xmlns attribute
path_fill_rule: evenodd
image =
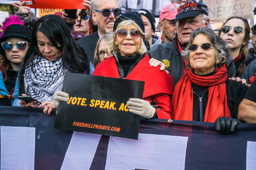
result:
<svg viewBox="0 0 256 170"><path fill-rule="evenodd" d="M244 45L242 45L240 51L239 51L239 54L241 54L243 60L242 60L242 63L238 66L237 68L237 73L236 73L236 77L241 77L246 65L245 65L245 60L246 60L246 57L248 55L248 44L249 44L249 40L250 40L250 26L249 26L249 23L247 21L247 19L245 18L242 18L242 17L238 17L238 16L233 16L233 17L230 17L228 18L223 26L225 26L225 24L230 20L230 19L241 19L243 22L244 22L244 25L245 25L245 35L244 35L244 39L243 39L243 42L245 42ZM219 30L219 35L221 35L221 29Z"/></svg>

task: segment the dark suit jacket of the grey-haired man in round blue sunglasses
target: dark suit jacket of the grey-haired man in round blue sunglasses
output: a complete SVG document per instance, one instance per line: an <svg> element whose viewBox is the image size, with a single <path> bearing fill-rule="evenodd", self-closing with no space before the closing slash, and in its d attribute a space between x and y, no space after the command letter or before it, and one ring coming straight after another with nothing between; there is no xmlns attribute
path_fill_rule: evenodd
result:
<svg viewBox="0 0 256 170"><path fill-rule="evenodd" d="M99 37L98 31L96 31L76 41L77 43L82 45L91 63L93 63L93 56L94 56L96 44L99 38L100 37Z"/></svg>

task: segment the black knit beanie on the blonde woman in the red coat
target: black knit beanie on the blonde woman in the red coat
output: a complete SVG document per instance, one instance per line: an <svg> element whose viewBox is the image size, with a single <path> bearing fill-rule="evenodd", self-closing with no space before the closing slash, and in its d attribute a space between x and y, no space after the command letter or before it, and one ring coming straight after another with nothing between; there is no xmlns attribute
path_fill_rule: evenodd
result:
<svg viewBox="0 0 256 170"><path fill-rule="evenodd" d="M143 33L145 33L145 27L144 27L143 21L140 15L135 12L126 12L123 15L120 15L114 23L113 32L116 31L116 27L118 26L118 24L124 20L133 20L135 23L138 24L138 26L143 31ZM144 39L144 36L143 36L143 39Z"/></svg>

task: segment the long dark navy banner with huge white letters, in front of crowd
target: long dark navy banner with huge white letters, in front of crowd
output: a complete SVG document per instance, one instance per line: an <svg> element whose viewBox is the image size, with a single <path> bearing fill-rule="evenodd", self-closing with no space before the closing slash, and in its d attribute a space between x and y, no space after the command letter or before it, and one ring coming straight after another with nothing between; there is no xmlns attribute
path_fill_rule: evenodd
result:
<svg viewBox="0 0 256 170"><path fill-rule="evenodd" d="M0 106L1 169L112 170L115 165L116 169L185 170L256 167L256 124L240 123L234 133L222 135L214 130L214 123L141 118L139 139L133 140L54 129L54 113L45 116L42 108ZM95 135L98 140L91 141ZM175 151L181 143L177 139L184 137L185 152ZM30 151L21 152L20 148ZM184 162L177 159L179 155L183 155Z"/></svg>

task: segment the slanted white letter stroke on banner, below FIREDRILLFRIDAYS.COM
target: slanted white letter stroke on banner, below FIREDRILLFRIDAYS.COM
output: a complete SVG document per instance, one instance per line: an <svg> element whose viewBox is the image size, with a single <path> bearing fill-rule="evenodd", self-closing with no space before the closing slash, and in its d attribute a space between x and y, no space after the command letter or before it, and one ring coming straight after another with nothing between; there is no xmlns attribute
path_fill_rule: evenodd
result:
<svg viewBox="0 0 256 170"><path fill-rule="evenodd" d="M61 170L90 169L101 135L73 132Z"/></svg>

